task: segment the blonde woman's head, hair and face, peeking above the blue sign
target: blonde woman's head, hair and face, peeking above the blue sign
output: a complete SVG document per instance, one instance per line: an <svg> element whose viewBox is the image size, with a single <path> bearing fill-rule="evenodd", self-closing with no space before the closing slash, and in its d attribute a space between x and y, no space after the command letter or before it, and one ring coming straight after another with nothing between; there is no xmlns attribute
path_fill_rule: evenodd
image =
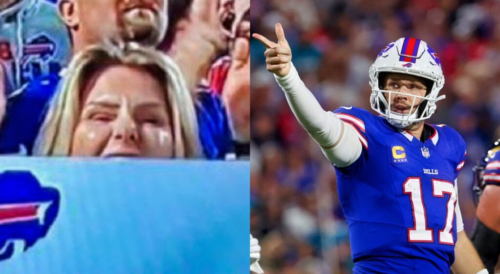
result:
<svg viewBox="0 0 500 274"><path fill-rule="evenodd" d="M75 55L35 155L197 157L193 100L169 57L135 43Z"/></svg>

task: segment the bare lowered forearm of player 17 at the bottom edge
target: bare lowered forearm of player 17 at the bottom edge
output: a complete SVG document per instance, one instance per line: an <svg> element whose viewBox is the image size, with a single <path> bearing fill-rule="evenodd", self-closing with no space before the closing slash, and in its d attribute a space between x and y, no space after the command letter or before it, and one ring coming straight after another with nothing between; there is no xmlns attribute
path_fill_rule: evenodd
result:
<svg viewBox="0 0 500 274"><path fill-rule="evenodd" d="M476 250L462 230L456 234L455 262L451 266L454 274L475 274L484 269Z"/></svg>

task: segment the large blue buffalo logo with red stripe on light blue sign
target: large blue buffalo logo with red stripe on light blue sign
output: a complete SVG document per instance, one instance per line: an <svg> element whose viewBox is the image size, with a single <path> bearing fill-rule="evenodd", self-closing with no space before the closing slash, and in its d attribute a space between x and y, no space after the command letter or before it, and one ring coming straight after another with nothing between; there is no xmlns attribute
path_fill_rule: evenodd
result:
<svg viewBox="0 0 500 274"><path fill-rule="evenodd" d="M59 210L59 192L28 171L0 173L0 261L45 237Z"/></svg>

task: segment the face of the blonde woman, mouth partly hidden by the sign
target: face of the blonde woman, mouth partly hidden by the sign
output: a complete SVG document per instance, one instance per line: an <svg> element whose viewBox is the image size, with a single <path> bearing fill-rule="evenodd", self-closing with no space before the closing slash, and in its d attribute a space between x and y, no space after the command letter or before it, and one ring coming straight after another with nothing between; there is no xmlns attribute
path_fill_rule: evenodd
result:
<svg viewBox="0 0 500 274"><path fill-rule="evenodd" d="M164 86L140 68L115 65L85 87L72 156L173 155Z"/></svg>

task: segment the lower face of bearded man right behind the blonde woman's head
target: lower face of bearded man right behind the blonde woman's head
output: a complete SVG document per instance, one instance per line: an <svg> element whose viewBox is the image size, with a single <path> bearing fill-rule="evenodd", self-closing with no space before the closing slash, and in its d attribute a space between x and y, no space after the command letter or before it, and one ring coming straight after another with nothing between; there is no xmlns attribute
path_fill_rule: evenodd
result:
<svg viewBox="0 0 500 274"><path fill-rule="evenodd" d="M167 28L167 0L77 0L87 41L113 37L156 45Z"/></svg>

